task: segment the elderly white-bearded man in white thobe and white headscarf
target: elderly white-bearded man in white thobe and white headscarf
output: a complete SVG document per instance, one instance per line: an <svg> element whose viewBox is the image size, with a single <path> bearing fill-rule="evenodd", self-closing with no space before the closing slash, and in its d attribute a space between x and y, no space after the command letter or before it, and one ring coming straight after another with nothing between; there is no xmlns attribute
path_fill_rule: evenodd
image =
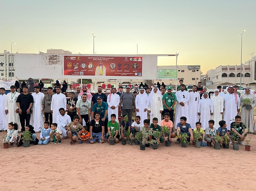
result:
<svg viewBox="0 0 256 191"><path fill-rule="evenodd" d="M213 104L213 115L211 119L214 121L213 127L215 129L219 128L219 121L222 120L222 114L223 114L223 98L219 95L219 90L214 90L214 95L211 98L212 104Z"/></svg>

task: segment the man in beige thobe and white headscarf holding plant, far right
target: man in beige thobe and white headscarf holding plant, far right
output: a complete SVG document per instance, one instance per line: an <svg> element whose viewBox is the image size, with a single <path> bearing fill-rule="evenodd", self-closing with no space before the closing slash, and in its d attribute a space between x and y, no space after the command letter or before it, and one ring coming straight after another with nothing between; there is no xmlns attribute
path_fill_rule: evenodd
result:
<svg viewBox="0 0 256 191"><path fill-rule="evenodd" d="M246 109L245 104L243 103L243 99L250 99L251 104L250 108ZM249 87L244 88L243 94L240 96L241 100L241 118L242 118L242 123L246 124L246 127L250 132L254 132L254 126L253 126L253 108L256 106L256 98L255 95L253 95L253 92Z"/></svg>

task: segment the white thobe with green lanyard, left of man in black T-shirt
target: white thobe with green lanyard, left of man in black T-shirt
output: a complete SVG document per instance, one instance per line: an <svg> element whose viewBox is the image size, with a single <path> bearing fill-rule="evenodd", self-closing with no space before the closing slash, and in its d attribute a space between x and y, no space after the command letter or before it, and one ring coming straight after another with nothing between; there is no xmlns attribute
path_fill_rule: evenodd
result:
<svg viewBox="0 0 256 191"><path fill-rule="evenodd" d="M19 122L19 113L16 113L16 109L18 109L18 105L17 105L17 97L18 95L20 95L20 93L15 92L14 94L12 92L8 93L6 95L6 99L5 99L5 110L8 110L8 114L7 114L7 123L17 123L18 124L18 129L20 126L20 122ZM10 103L10 101L12 103Z"/></svg>

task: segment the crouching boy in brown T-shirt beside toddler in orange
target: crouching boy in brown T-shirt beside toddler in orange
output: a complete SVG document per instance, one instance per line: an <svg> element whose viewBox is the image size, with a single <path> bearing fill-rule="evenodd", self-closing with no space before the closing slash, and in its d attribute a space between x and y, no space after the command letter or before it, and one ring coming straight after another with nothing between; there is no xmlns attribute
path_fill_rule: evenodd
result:
<svg viewBox="0 0 256 191"><path fill-rule="evenodd" d="M75 142L76 142L76 138L77 138L77 131L79 129L82 129L83 126L78 123L79 122L79 117L78 116L74 116L73 118L73 122L70 122L68 125L67 125L67 134L71 140L70 144L71 145L74 145Z"/></svg>

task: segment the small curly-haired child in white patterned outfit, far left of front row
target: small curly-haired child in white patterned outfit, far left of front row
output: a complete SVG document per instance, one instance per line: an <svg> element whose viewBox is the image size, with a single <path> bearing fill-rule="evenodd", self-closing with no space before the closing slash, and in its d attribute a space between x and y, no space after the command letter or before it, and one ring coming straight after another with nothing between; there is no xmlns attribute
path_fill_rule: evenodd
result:
<svg viewBox="0 0 256 191"><path fill-rule="evenodd" d="M8 142L9 145L17 146L18 141L18 124L14 122L8 123L7 137L4 142Z"/></svg>

